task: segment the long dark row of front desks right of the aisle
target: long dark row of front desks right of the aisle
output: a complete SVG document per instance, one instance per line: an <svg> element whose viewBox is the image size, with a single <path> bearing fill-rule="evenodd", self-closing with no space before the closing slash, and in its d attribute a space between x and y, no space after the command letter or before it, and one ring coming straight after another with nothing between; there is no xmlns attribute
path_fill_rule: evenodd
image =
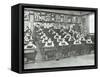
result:
<svg viewBox="0 0 100 77"><path fill-rule="evenodd" d="M61 59L70 56L91 54L94 44L70 44L66 46L41 47L43 60Z"/></svg>

